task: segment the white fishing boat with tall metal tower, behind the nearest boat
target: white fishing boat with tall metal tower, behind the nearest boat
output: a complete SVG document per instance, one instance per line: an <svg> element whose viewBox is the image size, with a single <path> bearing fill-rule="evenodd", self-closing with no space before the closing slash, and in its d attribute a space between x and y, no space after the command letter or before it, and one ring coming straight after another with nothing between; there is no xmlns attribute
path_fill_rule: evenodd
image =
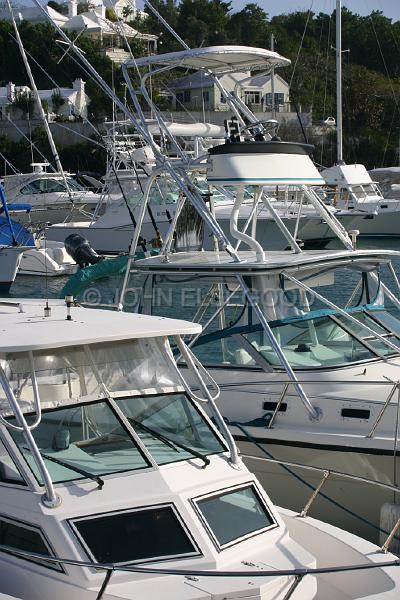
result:
<svg viewBox="0 0 400 600"><path fill-rule="evenodd" d="M64 39L67 41L66 36ZM100 82L99 75L79 49L73 46L71 48L85 67L91 70L93 77ZM254 425L252 422L255 420L256 426L261 422L260 428L257 429L260 438L257 441L257 450L261 448L262 451L268 451L270 438L266 438L265 443L263 440L264 436L268 436L272 430L277 436L275 446L293 448L290 442L297 438L299 441L295 446L296 451L299 447L305 452L311 450L307 462L312 465L312 461L318 459L320 464L316 465L316 470L318 468L336 470L334 467L338 461L344 462L349 470L348 475L353 477L352 481L357 493L353 493L353 489L348 493L347 486L335 483L335 475L330 477L332 481L324 485L327 490L330 489L331 483L336 485L333 492L339 494L339 499L331 498L326 508L320 495L316 506L318 508L322 505L326 518L331 518L337 523L336 514L333 514L334 511L331 509L335 506L342 510L343 505L347 510L345 520L349 514L355 514L356 518L361 518L362 526L359 527L359 531L365 533L365 525L380 528L379 510L385 504L387 497L382 505L378 503L376 507L374 498L358 487L362 480L375 479L379 484L374 486L375 489L379 488L385 494L389 493L391 500L396 500L398 493L396 449L398 430L395 425L397 379L392 378L398 368L399 345L397 344L397 320L389 310L391 307L388 306L390 302L393 303L395 310L399 307L396 294L400 286L391 265L391 261L398 257L398 253L355 250L353 241L345 229L334 215L326 210L313 190L313 186L320 185L322 179L309 158L309 148L301 144L272 140L263 124L255 120L254 115L248 112L237 95L230 96L226 93L227 104L240 126L250 129L251 134L243 141L240 140L240 136L239 139L230 137L225 144L210 149L206 159L192 161L181 151L174 137L164 127L162 115L152 103L146 89L149 77L155 76L159 70L167 71L177 66L184 69L202 68L218 80L217 75L221 73L244 68L268 71L279 64L287 64L287 61L275 52L241 46L202 47L192 50L186 48L179 52L140 58L131 63L128 61L122 69L130 101L134 107L133 113L102 82L103 88L107 89L107 93L117 106L132 120L132 123L135 123L138 133L152 148L157 162L157 168L153 170L146 182L144 201L131 244L120 308L123 308L124 292L129 283L132 266L145 275L147 286L166 283L173 288L172 292L175 290L178 294L181 293L179 283L185 282L187 286L191 286L191 289L193 281L199 283L200 287L212 283L211 293L207 293L204 303L196 304L196 296L194 305L195 308L199 308L198 318L203 316L206 320L206 330L212 325L217 330L216 335L220 336L217 342L222 349L226 348L228 351L226 359L222 355L222 363L221 355L218 355L216 362L219 364L211 366L213 377L224 384L219 403L232 431L240 443L251 444L254 454L256 446L251 439L252 436L249 436L248 432L244 440L240 439L240 436L243 429L246 432L247 427ZM135 74L143 69L145 76L133 82L129 73L130 66L134 67ZM221 93L225 91L221 90ZM139 96L149 104L180 160L172 161L168 156L160 153L148 131L142 112L142 100L139 102ZM245 118L250 125L245 122ZM201 187L197 186L194 177L194 174L199 171L205 173L211 197L214 186L229 192L233 190L235 201L230 217L230 232L236 240L235 245L227 239L215 219L212 207L210 211L204 202L204 193ZM146 214L151 188L156 184L158 177L166 175L175 182L180 191L174 219L160 255L135 261L133 265L133 258L138 248L140 226ZM271 185L278 185L279 181L299 186L310 203L319 211L321 218L335 232L344 249L322 252L302 251L296 238L279 219L279 215L274 213L268 197L265 196L263 186L266 180ZM271 255L264 252L252 235L254 228L248 231L252 221L255 224L257 222L256 210L249 216L243 228L239 229L238 216L248 189L251 190L255 209L261 202L270 210L277 226L286 237L288 250ZM173 252L176 223L187 203L193 206L205 225L210 228L215 237L215 250L195 253ZM354 233L353 236L355 240L356 234ZM240 250L240 245L243 244L248 248L244 252ZM380 272L384 268L388 270L394 281L396 293L393 293L386 281L380 278ZM337 298L326 297L329 296L329 289L325 292L324 287L330 287L334 291L340 290L340 285L349 281L343 275L342 269L346 271L345 275L350 277L353 287L349 290L348 299L340 305ZM354 275L355 281L352 280ZM224 315L224 308L225 306L228 308L236 292L241 294L241 302L234 302L237 305L236 314L228 315L227 318ZM292 296L294 300L291 299ZM218 306L211 314L207 314L203 308L205 306L207 309L209 299L215 297L218 298ZM175 303L174 306L179 307L181 314L184 305L182 307ZM142 306L138 308L154 310L154 306L149 306L147 293L144 294ZM169 308L172 312L173 306ZM314 308L320 309L321 312L313 314ZM294 319L295 317L297 320ZM322 320L314 323L315 319ZM296 330L293 331L293 322L295 328L301 325L300 334L296 333ZM243 330L240 329L241 326ZM285 331L279 331L281 326L289 327ZM274 331L275 327L278 329ZM231 332L233 349L225 343ZM204 333L202 336L196 336L191 342L193 346L197 343L200 347L202 341L203 348L206 349L206 342L212 341L207 340L206 335ZM237 338L239 346L235 346ZM213 358L211 350L207 354L211 359ZM252 362L253 360L255 363ZM387 378L390 380L389 383ZM316 380L316 387L314 387L316 399L310 398L310 390L307 388L309 384L315 383L314 380ZM343 381L344 385L341 385ZM355 386L359 381L360 385ZM231 385L233 383L237 384L236 387ZM276 383L278 383L278 391L274 387ZM242 391L241 398L236 397L234 402L230 401L233 398L232 388ZM361 408L360 402L367 405L365 412L358 412L357 409ZM287 421L283 413L290 414L289 403L293 407L291 410L296 414L298 410L304 410L304 422L294 418L294 421L290 421L291 425L286 426ZM235 410L241 411L242 420L238 421ZM266 416L268 413L271 414ZM267 421L270 420L274 424L273 429L272 426L267 427ZM360 429L365 426L365 422L368 424L366 431L360 435ZM304 423L304 427L301 423ZM242 429L239 429L239 426ZM311 437L314 435L315 438ZM317 440L317 438L318 442L310 444L311 439ZM323 453L320 452L321 445ZM389 447L390 452L388 452ZM248 450L246 445L244 448ZM376 468L374 469L374 459L371 459L371 456L379 457L379 473ZM266 458L266 460L265 462L257 460L255 468L262 475L264 483L271 479L273 485L270 461L273 461L274 457L259 458ZM329 461L332 461L333 466L328 464ZM359 464L364 469L361 469L361 472L357 472ZM352 475L352 471L356 475ZM286 472L283 473L283 477L278 474L277 479L283 481L286 500L288 500L289 478L286 475ZM307 481L306 483L308 484ZM318 491L321 486L322 483L319 484ZM291 496L289 501L294 497ZM346 507L346 503L350 503L350 507L348 505ZM364 508L368 511L366 517L361 515ZM398 522L396 518L398 504L391 502L389 508L393 509L395 527ZM388 517L388 512L384 514L385 518ZM359 526L360 523L358 522L357 525ZM389 531L391 530L392 527L389 527ZM374 530L374 535L375 533Z"/></svg>

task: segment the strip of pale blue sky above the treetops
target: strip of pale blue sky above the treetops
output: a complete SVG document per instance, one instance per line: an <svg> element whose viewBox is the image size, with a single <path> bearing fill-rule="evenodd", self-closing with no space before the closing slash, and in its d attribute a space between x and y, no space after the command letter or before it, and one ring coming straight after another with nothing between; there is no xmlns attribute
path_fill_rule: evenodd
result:
<svg viewBox="0 0 400 600"><path fill-rule="evenodd" d="M273 17L296 10L311 10L315 13L331 13L335 0L232 0L232 7L241 10L246 4L255 2ZM373 10L381 10L386 17L400 21L400 0L342 0L342 5L353 13L369 15Z"/></svg>

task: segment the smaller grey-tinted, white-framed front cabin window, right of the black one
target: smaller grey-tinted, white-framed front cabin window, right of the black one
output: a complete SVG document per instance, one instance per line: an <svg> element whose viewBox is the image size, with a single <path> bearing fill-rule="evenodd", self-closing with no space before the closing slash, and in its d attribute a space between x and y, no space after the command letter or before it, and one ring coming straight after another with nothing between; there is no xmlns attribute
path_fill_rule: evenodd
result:
<svg viewBox="0 0 400 600"><path fill-rule="evenodd" d="M194 504L220 548L277 525L254 485L196 498Z"/></svg>

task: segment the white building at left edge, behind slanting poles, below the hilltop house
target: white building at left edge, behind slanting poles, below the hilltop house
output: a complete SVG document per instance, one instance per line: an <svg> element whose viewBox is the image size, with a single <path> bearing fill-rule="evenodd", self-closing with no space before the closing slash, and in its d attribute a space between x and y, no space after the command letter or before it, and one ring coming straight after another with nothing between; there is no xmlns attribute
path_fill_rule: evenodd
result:
<svg viewBox="0 0 400 600"><path fill-rule="evenodd" d="M15 85L10 82L5 87L0 87L0 119L7 119L13 113L14 117L23 117L25 111L20 108L19 98L32 97L31 89L26 85ZM90 102L85 93L85 82L75 79L72 88L53 88L39 90L41 101L47 104L48 113L55 113L66 118L87 117L87 107ZM18 103L18 106L17 106ZM33 109L36 117L37 109Z"/></svg>

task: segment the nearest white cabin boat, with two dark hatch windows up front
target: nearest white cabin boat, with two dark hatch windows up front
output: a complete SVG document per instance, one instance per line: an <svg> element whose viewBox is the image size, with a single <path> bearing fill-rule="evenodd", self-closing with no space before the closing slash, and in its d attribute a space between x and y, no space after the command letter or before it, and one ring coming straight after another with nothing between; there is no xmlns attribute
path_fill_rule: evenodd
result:
<svg viewBox="0 0 400 600"><path fill-rule="evenodd" d="M0 322L1 593L398 597L395 556L272 504L183 341L199 325L69 297L2 301Z"/></svg>

